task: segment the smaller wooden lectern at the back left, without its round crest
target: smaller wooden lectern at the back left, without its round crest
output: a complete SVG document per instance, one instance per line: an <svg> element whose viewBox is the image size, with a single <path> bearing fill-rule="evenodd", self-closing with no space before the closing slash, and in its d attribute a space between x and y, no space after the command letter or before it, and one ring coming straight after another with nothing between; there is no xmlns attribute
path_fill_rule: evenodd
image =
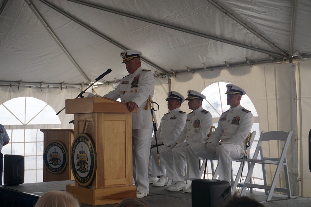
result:
<svg viewBox="0 0 311 207"><path fill-rule="evenodd" d="M60 180L74 180L70 169L71 164L69 160L69 151L74 139L73 129L40 129L43 132L43 147L46 148L47 144L52 141L60 141L66 147L68 153L68 163L66 169L62 173L51 173L46 167L43 167L43 182L60 181Z"/></svg>

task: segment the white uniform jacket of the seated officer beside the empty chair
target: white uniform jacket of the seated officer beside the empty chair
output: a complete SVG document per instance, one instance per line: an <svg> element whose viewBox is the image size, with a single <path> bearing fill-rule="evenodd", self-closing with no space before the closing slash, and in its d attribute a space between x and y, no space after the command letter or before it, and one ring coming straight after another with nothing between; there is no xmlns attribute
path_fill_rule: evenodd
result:
<svg viewBox="0 0 311 207"><path fill-rule="evenodd" d="M236 144L245 149L245 138L254 123L254 116L241 105L229 109L221 114L216 130L211 134L208 142L221 144Z"/></svg>

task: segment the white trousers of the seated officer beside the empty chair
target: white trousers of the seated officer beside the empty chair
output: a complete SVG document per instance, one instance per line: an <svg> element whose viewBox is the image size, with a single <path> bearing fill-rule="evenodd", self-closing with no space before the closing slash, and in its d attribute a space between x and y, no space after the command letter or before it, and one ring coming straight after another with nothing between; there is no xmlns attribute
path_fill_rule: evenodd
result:
<svg viewBox="0 0 311 207"><path fill-rule="evenodd" d="M202 159L218 158L219 180L230 182L231 180L231 159L242 158L243 153L235 144L222 144L207 151L205 143L197 143L187 148L187 170L189 178L201 178L199 157Z"/></svg>

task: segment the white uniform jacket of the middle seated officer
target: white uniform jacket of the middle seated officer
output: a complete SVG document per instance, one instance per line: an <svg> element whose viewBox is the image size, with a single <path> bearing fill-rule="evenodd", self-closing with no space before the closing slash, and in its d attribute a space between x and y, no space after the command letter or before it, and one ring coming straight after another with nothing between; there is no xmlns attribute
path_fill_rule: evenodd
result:
<svg viewBox="0 0 311 207"><path fill-rule="evenodd" d="M213 117L211 113L201 106L187 115L185 127L175 142L178 144L186 140L191 145L203 140L206 141L206 136L212 124Z"/></svg>

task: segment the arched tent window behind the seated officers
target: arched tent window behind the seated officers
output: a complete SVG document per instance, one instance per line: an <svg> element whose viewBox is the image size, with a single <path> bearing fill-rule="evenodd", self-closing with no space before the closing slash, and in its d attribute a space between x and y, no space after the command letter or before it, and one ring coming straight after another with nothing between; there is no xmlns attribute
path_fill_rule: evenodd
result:
<svg viewBox="0 0 311 207"><path fill-rule="evenodd" d="M225 82L212 83L211 85L204 88L201 92L202 94L206 96L206 100L203 100L202 107L208 110L213 116L215 127L217 127L218 125L218 119L220 115L230 108L230 106L227 105L227 95L225 94L227 84L228 83L225 83ZM258 113L256 111L255 106L253 105L252 101L249 99L247 94L242 96L241 106L243 106L247 110L250 110L254 116L254 124L253 124L251 131L252 132L256 131L257 133L255 136L254 143L252 144L252 147L250 150L251 152L250 156L252 157L253 152L255 151L255 147L257 146L259 136L260 136L259 117L258 117ZM234 172L237 172L237 170L239 169L239 163L233 162L232 164L233 164L232 167L233 167ZM209 171L209 173L210 174L208 176L211 176L211 171Z"/></svg>

